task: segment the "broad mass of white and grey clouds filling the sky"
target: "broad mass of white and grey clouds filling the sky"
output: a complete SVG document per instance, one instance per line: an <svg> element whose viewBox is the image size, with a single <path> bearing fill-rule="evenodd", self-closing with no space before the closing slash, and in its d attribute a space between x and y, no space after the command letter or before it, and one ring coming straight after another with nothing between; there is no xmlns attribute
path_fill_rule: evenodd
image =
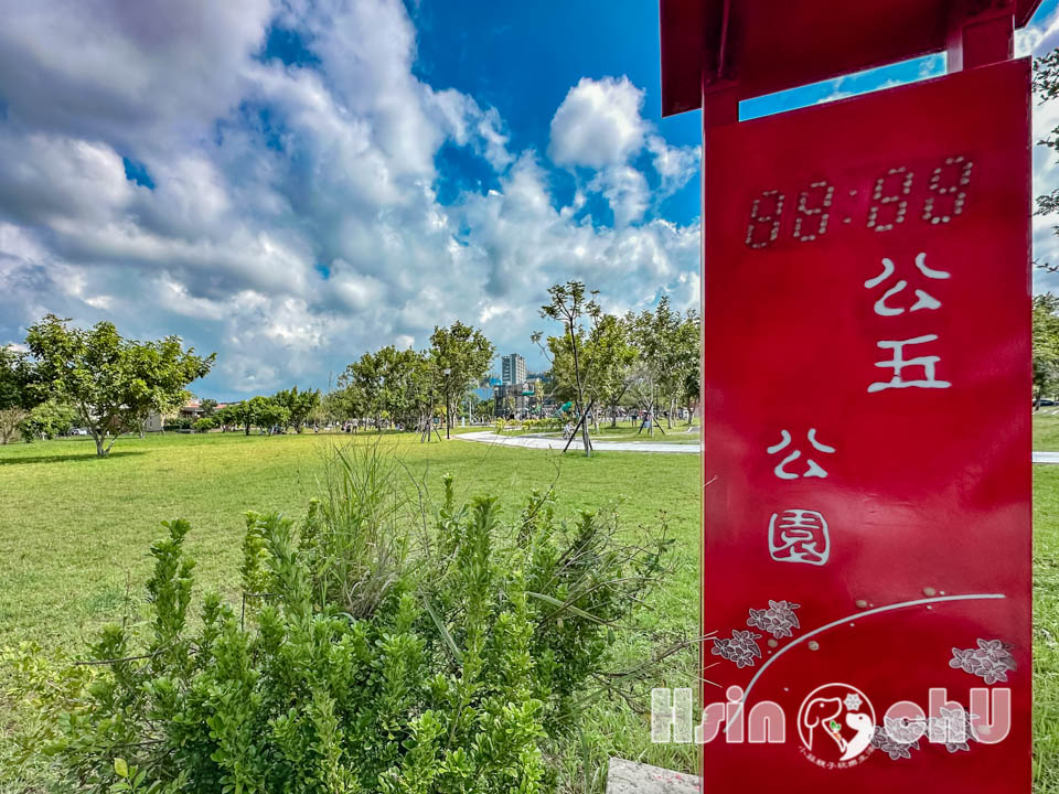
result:
<svg viewBox="0 0 1059 794"><path fill-rule="evenodd" d="M218 353L195 388L224 397L327 385L363 351L424 344L456 319L528 352L546 288L567 278L616 305L660 288L693 300L697 224L643 218L697 154L652 131L625 78L581 81L556 114L570 130L560 159L591 165L589 140L607 150L585 180L596 187L557 207L548 170L511 149L495 108L415 76L398 0L19 0L4 22L0 339L46 312L176 333ZM272 23L318 62L257 60ZM577 106L599 92L610 121L578 144ZM440 204L446 141L499 187ZM644 147L657 190L630 161ZM126 179L126 157L153 190ZM590 190L617 228L584 217Z"/></svg>

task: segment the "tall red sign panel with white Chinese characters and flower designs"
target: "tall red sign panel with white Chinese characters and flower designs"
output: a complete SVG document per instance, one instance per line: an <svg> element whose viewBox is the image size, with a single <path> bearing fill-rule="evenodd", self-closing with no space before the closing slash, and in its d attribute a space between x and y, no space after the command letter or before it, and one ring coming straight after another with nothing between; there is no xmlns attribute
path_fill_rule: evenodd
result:
<svg viewBox="0 0 1059 794"><path fill-rule="evenodd" d="M705 132L706 702L787 715L707 743L707 792L1029 791L1028 90L1007 62ZM843 758L931 687L1009 690L1009 734Z"/></svg>

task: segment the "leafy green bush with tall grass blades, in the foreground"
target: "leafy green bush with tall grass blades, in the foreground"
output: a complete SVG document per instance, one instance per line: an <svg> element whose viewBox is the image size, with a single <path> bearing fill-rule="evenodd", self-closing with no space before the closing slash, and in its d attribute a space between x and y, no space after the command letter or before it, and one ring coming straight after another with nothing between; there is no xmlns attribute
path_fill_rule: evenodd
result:
<svg viewBox="0 0 1059 794"><path fill-rule="evenodd" d="M536 492L504 522L451 478L409 530L394 480L339 453L297 526L248 514L243 602L207 594L197 621L190 526L164 524L149 624L21 695L45 715L26 752L90 792L556 790L548 759L668 541L622 545L612 511L568 526Z"/></svg>

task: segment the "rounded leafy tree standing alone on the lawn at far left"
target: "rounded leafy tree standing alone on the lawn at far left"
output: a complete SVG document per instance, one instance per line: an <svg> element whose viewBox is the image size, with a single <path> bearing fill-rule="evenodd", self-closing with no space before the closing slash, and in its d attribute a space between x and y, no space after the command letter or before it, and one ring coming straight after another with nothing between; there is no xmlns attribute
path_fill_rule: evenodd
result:
<svg viewBox="0 0 1059 794"><path fill-rule="evenodd" d="M184 351L179 336L138 342L124 339L109 322L88 331L68 322L49 314L30 328L25 341L40 394L73 406L100 458L147 414L180 406L186 386L204 377L216 357Z"/></svg>

